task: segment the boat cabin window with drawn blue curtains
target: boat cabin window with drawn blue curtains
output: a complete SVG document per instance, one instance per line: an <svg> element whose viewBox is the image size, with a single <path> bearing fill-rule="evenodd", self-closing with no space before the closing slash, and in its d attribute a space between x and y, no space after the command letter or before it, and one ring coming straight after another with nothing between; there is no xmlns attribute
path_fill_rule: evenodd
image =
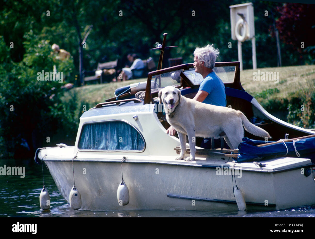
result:
<svg viewBox="0 0 315 239"><path fill-rule="evenodd" d="M123 121L107 121L83 125L79 149L144 150L140 133Z"/></svg>

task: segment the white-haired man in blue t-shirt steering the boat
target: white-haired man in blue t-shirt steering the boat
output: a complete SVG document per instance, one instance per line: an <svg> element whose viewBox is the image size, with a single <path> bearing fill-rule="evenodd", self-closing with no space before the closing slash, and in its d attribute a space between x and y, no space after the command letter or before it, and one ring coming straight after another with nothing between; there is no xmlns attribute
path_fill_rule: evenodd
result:
<svg viewBox="0 0 315 239"><path fill-rule="evenodd" d="M206 104L226 106L225 98L225 86L222 80L215 74L213 68L215 67L215 60L219 55L219 50L215 49L212 45L205 47L197 47L194 51L194 63L195 72L200 73L203 77L203 81L199 85L199 90L194 97L194 100L203 102ZM175 129L170 126L166 131L169 135L175 135ZM201 147L209 148L205 144L209 144L209 139L204 139Z"/></svg>

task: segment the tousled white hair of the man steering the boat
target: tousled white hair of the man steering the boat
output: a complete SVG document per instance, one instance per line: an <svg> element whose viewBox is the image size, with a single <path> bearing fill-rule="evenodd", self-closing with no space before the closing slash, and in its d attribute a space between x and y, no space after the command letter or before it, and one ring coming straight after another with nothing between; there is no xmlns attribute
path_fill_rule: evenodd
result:
<svg viewBox="0 0 315 239"><path fill-rule="evenodd" d="M219 53L219 49L215 49L212 44L205 47L197 47L194 51L194 56L197 56L200 62L203 61L205 67L213 69Z"/></svg>

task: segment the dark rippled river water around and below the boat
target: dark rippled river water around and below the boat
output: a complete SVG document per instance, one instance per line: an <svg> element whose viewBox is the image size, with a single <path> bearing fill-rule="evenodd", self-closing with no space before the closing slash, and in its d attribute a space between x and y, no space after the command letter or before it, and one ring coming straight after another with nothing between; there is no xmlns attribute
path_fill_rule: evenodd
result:
<svg viewBox="0 0 315 239"><path fill-rule="evenodd" d="M0 217L315 217L315 206L308 205L270 212L200 212L200 211L83 211L73 210L60 194L44 166L45 186L50 195L50 210L39 206L43 188L42 167L34 160L0 159L0 166L24 166L25 177L0 176Z"/></svg>

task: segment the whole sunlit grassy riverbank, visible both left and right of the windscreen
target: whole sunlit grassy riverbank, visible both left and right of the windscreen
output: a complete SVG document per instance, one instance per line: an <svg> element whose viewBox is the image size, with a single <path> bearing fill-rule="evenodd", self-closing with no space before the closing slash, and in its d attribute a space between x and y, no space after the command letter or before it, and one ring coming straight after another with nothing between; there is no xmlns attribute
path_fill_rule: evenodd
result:
<svg viewBox="0 0 315 239"><path fill-rule="evenodd" d="M257 70L243 70L241 84L243 88L271 114L301 127L314 127L315 109L315 65L260 68L261 72L278 72L279 81L254 81L253 73ZM146 81L146 78L127 82L112 82L102 85L87 85L65 92L63 101L75 101L76 114L79 116L94 107L114 97L115 89L136 82ZM302 110L301 105L304 105ZM77 119L78 120L78 119Z"/></svg>

